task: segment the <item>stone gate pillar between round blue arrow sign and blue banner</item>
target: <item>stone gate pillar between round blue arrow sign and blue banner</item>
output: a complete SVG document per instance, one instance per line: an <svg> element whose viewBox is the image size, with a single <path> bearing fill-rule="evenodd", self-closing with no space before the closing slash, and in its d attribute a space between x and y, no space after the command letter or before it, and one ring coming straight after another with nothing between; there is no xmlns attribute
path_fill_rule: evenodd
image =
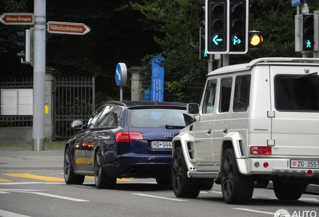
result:
<svg viewBox="0 0 319 217"><path fill-rule="evenodd" d="M143 99L143 93L140 91L142 88L142 81L144 80L144 75L139 74L138 71L141 66L132 66L128 68L127 71L131 73L131 100L139 101Z"/></svg>

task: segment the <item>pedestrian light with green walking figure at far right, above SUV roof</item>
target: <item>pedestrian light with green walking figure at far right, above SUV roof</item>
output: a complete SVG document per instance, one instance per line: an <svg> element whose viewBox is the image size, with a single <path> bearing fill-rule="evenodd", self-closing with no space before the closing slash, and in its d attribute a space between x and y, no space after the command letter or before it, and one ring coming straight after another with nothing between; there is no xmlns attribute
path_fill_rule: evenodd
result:
<svg viewBox="0 0 319 217"><path fill-rule="evenodd" d="M295 16L295 51L319 51L319 15Z"/></svg>

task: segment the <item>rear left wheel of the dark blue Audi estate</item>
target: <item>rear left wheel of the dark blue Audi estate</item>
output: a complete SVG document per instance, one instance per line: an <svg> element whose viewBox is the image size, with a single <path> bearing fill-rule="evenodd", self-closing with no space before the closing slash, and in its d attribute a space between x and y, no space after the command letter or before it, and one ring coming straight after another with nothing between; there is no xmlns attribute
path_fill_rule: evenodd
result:
<svg viewBox="0 0 319 217"><path fill-rule="evenodd" d="M113 189L116 184L116 177L108 178L105 174L100 149L96 151L94 159L94 181L97 189Z"/></svg>

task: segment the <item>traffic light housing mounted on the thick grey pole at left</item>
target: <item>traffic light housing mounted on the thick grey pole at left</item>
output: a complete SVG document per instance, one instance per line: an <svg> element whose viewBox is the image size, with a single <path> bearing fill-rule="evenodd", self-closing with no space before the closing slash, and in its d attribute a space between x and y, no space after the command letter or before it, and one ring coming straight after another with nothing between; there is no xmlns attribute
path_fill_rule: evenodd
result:
<svg viewBox="0 0 319 217"><path fill-rule="evenodd" d="M24 41L17 42L20 52L17 52L18 57L21 58L21 63L33 63L33 28L25 32L17 32L18 38Z"/></svg>

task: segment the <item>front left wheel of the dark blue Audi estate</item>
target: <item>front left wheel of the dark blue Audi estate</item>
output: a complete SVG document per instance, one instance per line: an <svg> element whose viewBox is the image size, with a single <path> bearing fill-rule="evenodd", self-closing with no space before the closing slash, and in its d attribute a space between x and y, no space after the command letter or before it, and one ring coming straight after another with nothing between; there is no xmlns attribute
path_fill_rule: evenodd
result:
<svg viewBox="0 0 319 217"><path fill-rule="evenodd" d="M76 175L73 172L72 167L72 159L71 159L71 150L70 147L66 147L64 151L64 181L66 184L83 184L84 182L84 175Z"/></svg>

